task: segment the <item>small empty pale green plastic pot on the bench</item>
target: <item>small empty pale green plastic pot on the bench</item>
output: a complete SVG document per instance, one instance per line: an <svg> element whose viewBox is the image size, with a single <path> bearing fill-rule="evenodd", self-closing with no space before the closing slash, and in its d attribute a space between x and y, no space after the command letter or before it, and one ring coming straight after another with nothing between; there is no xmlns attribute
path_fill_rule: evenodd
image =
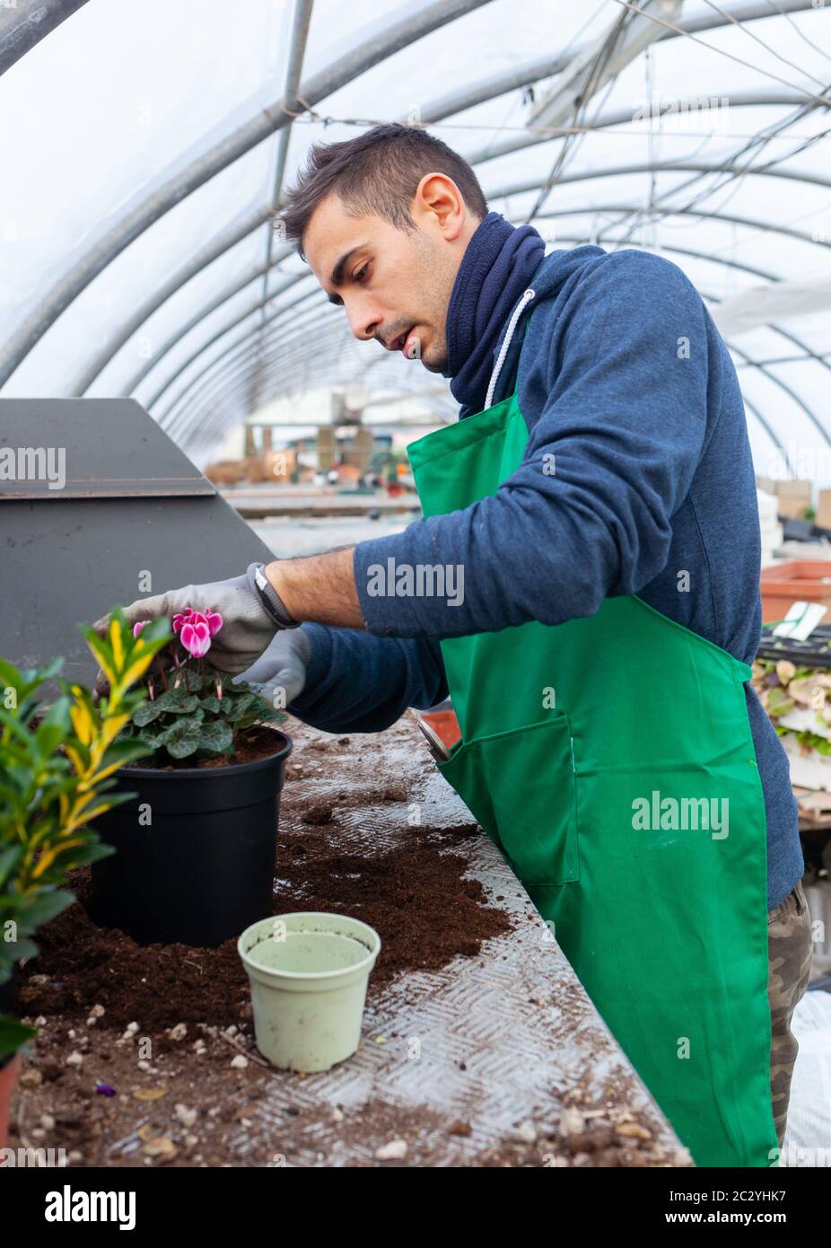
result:
<svg viewBox="0 0 831 1248"><path fill-rule="evenodd" d="M328 1071L358 1047L374 929L346 915L301 911L261 919L237 941L251 980L255 1038L288 1071Z"/></svg>

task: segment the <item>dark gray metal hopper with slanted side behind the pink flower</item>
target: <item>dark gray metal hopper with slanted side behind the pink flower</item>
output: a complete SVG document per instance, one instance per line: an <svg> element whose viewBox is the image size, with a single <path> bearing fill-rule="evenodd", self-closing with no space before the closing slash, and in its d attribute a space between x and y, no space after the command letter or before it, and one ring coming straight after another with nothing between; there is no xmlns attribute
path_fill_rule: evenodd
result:
<svg viewBox="0 0 831 1248"><path fill-rule="evenodd" d="M271 558L134 399L0 399L0 655L17 666L64 655L89 684L76 622Z"/></svg>

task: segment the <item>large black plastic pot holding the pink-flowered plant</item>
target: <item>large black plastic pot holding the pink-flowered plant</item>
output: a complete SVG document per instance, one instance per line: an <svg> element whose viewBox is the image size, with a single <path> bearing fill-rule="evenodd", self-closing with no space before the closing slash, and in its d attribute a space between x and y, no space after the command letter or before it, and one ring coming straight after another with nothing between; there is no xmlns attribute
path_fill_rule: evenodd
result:
<svg viewBox="0 0 831 1248"><path fill-rule="evenodd" d="M216 768L125 768L137 796L95 827L116 850L92 864L90 914L140 945L213 947L272 911L279 794L292 741Z"/></svg>

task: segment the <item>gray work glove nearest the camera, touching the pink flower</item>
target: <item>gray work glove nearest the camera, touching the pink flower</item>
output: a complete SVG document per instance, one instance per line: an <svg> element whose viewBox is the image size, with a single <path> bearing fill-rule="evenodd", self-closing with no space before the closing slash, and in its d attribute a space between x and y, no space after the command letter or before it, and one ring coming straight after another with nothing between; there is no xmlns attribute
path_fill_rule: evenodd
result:
<svg viewBox="0 0 831 1248"><path fill-rule="evenodd" d="M197 612L206 609L218 612L222 626L211 639L208 661L217 671L238 675L260 658L281 628L257 589L255 572L258 567L252 563L245 575L232 577L230 580L216 580L207 585L183 585L181 589L168 589L166 594L138 598L125 608L127 623L132 625L140 620L166 618L172 624L173 615L185 613L188 607ZM282 613L283 626L293 628L294 622L286 613L273 588L270 588L270 598L271 610ZM109 617L102 617L92 628L97 633L104 633L107 619ZM167 650L163 650L160 658L166 654Z"/></svg>

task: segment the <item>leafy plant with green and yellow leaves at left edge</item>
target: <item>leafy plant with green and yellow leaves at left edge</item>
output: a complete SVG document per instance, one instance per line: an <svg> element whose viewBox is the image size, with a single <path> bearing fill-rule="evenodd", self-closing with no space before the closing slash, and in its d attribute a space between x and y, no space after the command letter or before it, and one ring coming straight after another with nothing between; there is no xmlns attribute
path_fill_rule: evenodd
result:
<svg viewBox="0 0 831 1248"><path fill-rule="evenodd" d="M46 705L44 685L62 659L22 671L0 659L0 985L37 952L37 927L75 900L62 887L67 872L111 852L90 824L132 796L112 791L115 773L147 753L116 736L145 699L143 689L130 690L170 640L167 623L132 636L116 610L104 636L80 626L110 685L97 703L60 680L61 695ZM0 1063L31 1035L0 1018Z"/></svg>

